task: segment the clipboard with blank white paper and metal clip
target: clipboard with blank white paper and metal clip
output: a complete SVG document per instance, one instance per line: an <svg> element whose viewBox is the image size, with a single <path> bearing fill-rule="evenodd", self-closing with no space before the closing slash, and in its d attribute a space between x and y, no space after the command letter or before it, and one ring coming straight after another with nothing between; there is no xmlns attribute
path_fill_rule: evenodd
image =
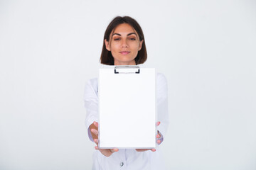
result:
<svg viewBox="0 0 256 170"><path fill-rule="evenodd" d="M99 147L156 147L155 69L115 66L99 73Z"/></svg>

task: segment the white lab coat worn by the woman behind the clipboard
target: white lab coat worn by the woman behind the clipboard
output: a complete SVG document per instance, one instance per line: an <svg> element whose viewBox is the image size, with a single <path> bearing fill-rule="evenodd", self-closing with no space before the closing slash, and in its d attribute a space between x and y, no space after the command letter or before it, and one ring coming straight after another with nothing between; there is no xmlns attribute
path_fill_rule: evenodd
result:
<svg viewBox="0 0 256 170"><path fill-rule="evenodd" d="M89 126L94 122L99 122L98 115L98 95L97 95L97 78L90 79L85 85L85 108L87 111L85 125L88 130L88 136L92 140ZM158 73L156 76L156 97L157 97L157 121L161 124L157 130L161 136L166 135L169 124L168 115L168 93L167 81L164 74ZM161 138L161 141L163 138ZM161 146L161 145L160 145ZM146 151L137 152L135 149L119 149L110 157L105 157L100 151L95 150L93 154L93 170L154 170L165 169L164 159L161 157L160 147L156 146L156 152Z"/></svg>

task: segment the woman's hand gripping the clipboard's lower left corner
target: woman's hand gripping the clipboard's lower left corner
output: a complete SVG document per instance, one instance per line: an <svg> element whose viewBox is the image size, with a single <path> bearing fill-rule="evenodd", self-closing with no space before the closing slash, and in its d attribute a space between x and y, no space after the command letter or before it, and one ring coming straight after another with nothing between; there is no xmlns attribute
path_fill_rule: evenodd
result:
<svg viewBox="0 0 256 170"><path fill-rule="evenodd" d="M114 152L117 152L118 149L117 148L114 148L114 149L100 149L98 147L98 144L99 144L99 140L98 140L98 134L99 134L98 127L99 127L99 124L97 122L93 122L93 124L90 125L90 130L92 132L92 138L93 138L94 142L97 144L97 146L95 146L95 149L99 150L106 157L110 157L110 155L112 155Z"/></svg>

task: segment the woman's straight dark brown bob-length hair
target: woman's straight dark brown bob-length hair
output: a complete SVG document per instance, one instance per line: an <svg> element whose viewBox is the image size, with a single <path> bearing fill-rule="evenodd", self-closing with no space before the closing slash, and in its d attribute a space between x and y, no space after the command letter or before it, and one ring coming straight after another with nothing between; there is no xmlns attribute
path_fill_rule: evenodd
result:
<svg viewBox="0 0 256 170"><path fill-rule="evenodd" d="M142 49L139 50L137 57L135 57L136 64L142 64L146 62L146 57L147 57L146 44L144 40L144 34L142 32L142 28L139 26L139 23L137 23L137 21L134 20L134 18L131 18L129 16L124 16L124 17L117 16L110 22L110 24L107 26L107 29L105 30L102 53L100 56L100 63L107 64L107 65L114 65L114 58L111 54L111 51L106 49L104 40L106 39L107 41L109 41L110 33L112 32L112 30L114 30L114 28L117 28L117 26L119 26L119 24L121 23L128 23L130 26L132 26L132 28L134 28L134 30L136 30L136 32L139 35L139 41L143 40Z"/></svg>

